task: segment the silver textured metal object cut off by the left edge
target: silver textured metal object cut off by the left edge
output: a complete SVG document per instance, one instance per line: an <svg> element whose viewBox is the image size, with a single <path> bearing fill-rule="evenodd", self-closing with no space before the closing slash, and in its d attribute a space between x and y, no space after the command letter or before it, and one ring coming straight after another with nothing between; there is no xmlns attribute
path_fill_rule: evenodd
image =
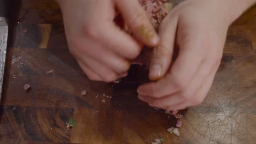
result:
<svg viewBox="0 0 256 144"><path fill-rule="evenodd" d="M8 25L4 17L0 17L0 100L3 90L5 58L7 51Z"/></svg>

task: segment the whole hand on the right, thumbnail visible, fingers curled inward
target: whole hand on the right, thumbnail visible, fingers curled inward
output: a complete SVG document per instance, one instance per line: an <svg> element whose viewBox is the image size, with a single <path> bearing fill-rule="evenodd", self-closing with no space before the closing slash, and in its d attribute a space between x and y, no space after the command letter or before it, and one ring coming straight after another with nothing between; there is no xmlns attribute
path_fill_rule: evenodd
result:
<svg viewBox="0 0 256 144"><path fill-rule="evenodd" d="M235 7L230 0L187 0L172 9L161 22L150 65L149 78L158 81L139 86L138 98L168 110L201 104L222 59L228 27L246 9L243 2ZM171 64L174 45L179 53Z"/></svg>

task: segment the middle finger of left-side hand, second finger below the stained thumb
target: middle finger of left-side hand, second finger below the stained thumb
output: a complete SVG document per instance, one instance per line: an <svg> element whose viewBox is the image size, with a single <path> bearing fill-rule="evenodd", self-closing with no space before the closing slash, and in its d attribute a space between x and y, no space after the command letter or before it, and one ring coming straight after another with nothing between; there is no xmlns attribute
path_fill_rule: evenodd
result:
<svg viewBox="0 0 256 144"><path fill-rule="evenodd" d="M130 68L129 61L93 40L78 40L76 44L77 51L74 53L80 61L85 61L85 58L95 59L118 75L126 73Z"/></svg>

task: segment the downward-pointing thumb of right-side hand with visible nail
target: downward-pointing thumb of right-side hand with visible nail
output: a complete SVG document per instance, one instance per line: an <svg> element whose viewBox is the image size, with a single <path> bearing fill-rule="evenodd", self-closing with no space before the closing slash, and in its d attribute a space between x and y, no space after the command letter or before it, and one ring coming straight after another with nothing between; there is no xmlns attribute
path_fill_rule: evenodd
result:
<svg viewBox="0 0 256 144"><path fill-rule="evenodd" d="M149 69L149 79L158 80L163 77L172 61L172 53L177 29L176 17L172 21L161 22L159 27L160 44L154 48L152 61Z"/></svg>

